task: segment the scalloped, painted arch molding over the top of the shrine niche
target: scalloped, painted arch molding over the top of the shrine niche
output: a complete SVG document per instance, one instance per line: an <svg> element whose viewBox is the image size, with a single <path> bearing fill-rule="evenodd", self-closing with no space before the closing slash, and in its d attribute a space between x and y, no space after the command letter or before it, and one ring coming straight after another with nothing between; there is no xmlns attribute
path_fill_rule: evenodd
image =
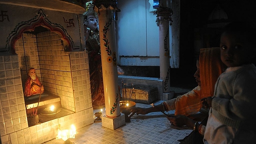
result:
<svg viewBox="0 0 256 144"><path fill-rule="evenodd" d="M35 18L32 18L28 21L20 22L15 26L14 30L10 32L9 36L7 37L6 49L10 50L12 54L15 54L16 41L22 37L22 34L25 31L32 32L37 26L42 26L48 29L50 32L56 32L57 34L59 34L64 42L64 50L72 51L74 42L66 29L64 29L64 27L60 24L54 24L50 22L50 20L46 18L46 15L44 14L42 9L38 11L38 15L35 16Z"/></svg>

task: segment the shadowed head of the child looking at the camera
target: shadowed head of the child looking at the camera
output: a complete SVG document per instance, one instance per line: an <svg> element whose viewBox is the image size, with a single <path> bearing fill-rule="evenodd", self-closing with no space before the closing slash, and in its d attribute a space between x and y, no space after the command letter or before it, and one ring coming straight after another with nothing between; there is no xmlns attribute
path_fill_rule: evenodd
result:
<svg viewBox="0 0 256 144"><path fill-rule="evenodd" d="M237 33L224 32L220 38L220 48L221 60L228 67L241 66L250 62L250 45Z"/></svg>

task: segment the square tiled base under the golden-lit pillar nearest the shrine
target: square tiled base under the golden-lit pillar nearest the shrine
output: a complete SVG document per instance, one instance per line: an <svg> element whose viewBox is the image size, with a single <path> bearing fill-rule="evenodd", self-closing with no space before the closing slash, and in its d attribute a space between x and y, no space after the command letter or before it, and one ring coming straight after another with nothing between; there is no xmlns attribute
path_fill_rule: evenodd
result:
<svg viewBox="0 0 256 144"><path fill-rule="evenodd" d="M119 128L124 124L125 124L125 116L123 113L121 113L121 115L116 118L110 118L110 117L107 117L106 115L102 116L102 126L105 128L115 130L116 128Z"/></svg>

